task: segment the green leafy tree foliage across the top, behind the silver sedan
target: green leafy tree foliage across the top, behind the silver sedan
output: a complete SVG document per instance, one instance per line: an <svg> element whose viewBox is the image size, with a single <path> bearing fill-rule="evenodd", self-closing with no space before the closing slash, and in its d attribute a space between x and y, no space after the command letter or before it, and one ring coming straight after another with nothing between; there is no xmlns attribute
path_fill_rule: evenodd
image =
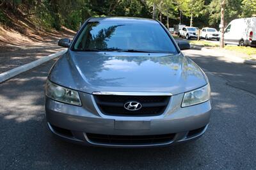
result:
<svg viewBox="0 0 256 170"><path fill-rule="evenodd" d="M80 23L89 17L127 16L152 18L155 6L156 19L170 26L182 22L189 25L193 20L195 26L218 27L220 24L221 0L0 0L0 22L8 22L4 12L33 16L37 27L44 29L79 29ZM256 14L256 0L226 0L225 24L239 17L252 17ZM155 4L155 5L154 5ZM4 10L4 12L3 12ZM30 15L32 14L32 15Z"/></svg>

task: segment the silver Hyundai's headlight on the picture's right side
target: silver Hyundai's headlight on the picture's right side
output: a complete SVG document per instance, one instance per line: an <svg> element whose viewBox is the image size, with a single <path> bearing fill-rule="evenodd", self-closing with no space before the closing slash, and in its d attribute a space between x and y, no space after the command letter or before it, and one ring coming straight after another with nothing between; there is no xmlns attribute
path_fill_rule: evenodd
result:
<svg viewBox="0 0 256 170"><path fill-rule="evenodd" d="M189 91L184 94L181 107L187 107L189 105L201 104L210 99L211 88L210 85Z"/></svg>

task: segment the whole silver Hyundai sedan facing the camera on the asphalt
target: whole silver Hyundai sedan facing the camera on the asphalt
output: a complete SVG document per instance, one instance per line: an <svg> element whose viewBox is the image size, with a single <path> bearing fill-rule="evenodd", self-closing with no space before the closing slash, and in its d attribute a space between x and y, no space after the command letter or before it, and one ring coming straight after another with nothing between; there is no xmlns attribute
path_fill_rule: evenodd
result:
<svg viewBox="0 0 256 170"><path fill-rule="evenodd" d="M91 146L168 146L202 136L211 102L205 73L161 22L86 20L45 86L51 132Z"/></svg>

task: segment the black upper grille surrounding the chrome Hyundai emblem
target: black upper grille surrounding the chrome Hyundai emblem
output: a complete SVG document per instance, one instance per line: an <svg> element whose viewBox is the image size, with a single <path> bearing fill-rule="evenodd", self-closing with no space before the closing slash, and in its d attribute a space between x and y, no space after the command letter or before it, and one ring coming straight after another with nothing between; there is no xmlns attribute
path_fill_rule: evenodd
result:
<svg viewBox="0 0 256 170"><path fill-rule="evenodd" d="M157 116L163 114L169 96L124 96L124 95L94 95L100 111L111 116ZM127 102L140 102L138 111L129 111L124 108Z"/></svg>

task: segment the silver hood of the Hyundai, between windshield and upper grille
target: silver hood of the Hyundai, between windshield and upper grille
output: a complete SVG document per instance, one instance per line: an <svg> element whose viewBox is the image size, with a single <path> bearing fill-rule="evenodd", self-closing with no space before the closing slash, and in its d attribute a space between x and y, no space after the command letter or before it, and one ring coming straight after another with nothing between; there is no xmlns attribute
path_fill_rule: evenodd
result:
<svg viewBox="0 0 256 170"><path fill-rule="evenodd" d="M52 67L49 80L85 93L132 91L174 95L207 84L202 70L182 54L71 50Z"/></svg>

